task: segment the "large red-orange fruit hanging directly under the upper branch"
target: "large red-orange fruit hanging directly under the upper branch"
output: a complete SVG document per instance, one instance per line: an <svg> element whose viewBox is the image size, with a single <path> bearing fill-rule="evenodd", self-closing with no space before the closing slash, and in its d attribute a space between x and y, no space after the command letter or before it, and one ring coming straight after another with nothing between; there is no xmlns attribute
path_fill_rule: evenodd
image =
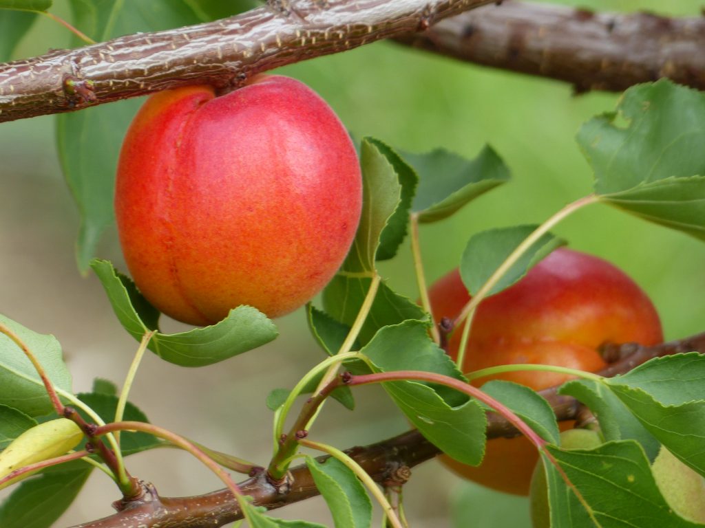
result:
<svg viewBox="0 0 705 528"><path fill-rule="evenodd" d="M270 317L302 306L341 265L361 206L348 133L288 77L151 96L118 163L130 273L161 312L194 325L241 304Z"/></svg>

